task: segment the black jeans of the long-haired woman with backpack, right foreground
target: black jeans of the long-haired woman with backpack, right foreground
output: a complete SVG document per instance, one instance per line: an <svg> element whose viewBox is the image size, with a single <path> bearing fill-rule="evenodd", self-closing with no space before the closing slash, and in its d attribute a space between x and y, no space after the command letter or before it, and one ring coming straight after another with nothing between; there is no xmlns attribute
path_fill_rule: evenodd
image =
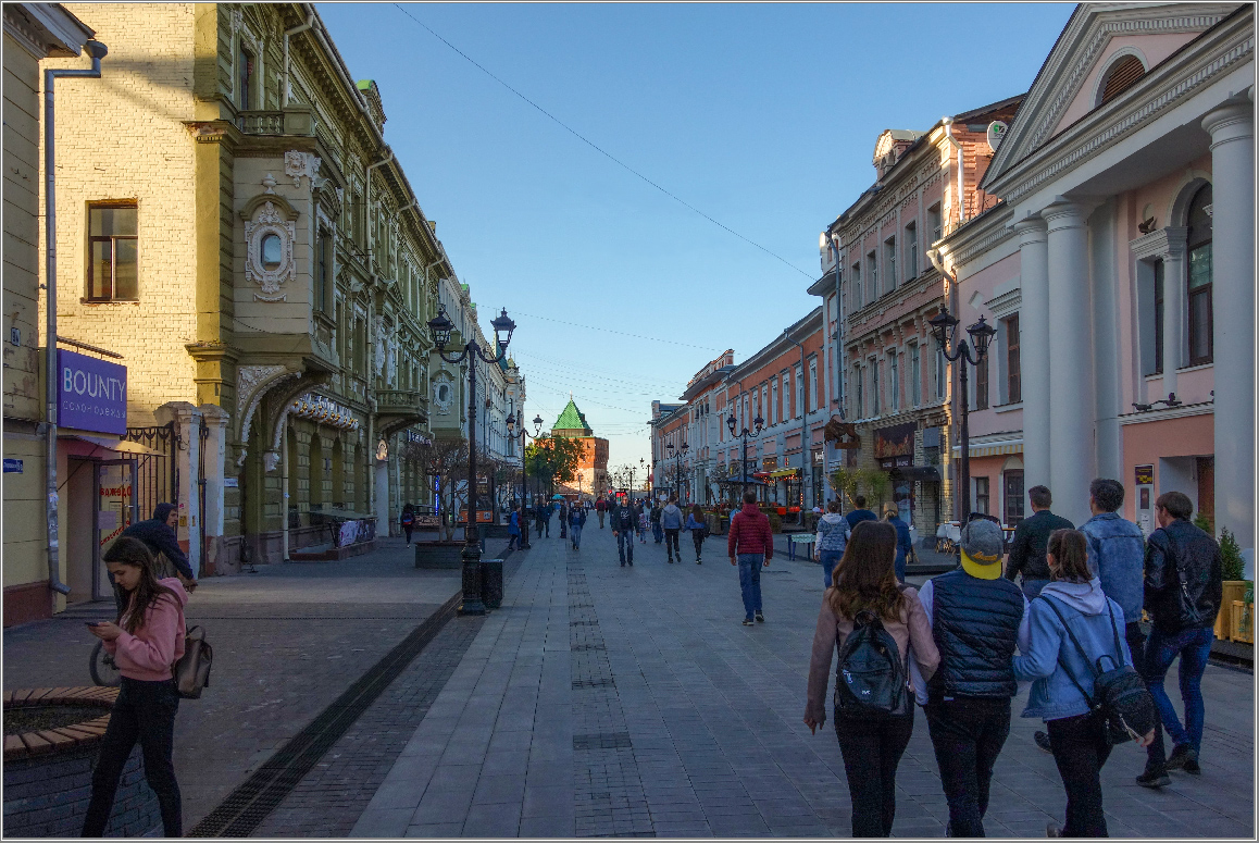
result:
<svg viewBox="0 0 1259 843"><path fill-rule="evenodd" d="M914 733L914 709L866 720L835 713L835 735L852 798L852 837L891 837L896 818L896 766Z"/></svg>

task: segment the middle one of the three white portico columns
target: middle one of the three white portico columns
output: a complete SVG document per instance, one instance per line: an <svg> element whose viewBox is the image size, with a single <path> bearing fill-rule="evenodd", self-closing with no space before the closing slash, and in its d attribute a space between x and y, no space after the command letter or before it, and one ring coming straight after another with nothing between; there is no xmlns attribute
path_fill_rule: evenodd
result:
<svg viewBox="0 0 1259 843"><path fill-rule="evenodd" d="M1088 520L1097 471L1087 210L1059 199L1041 212L1049 234L1050 490L1054 510L1076 524Z"/></svg>

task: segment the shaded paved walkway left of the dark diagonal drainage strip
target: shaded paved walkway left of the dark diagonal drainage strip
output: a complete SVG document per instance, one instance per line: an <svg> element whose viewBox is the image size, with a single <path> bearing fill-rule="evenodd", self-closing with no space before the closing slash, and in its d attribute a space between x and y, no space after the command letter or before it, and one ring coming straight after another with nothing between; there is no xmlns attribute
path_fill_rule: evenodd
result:
<svg viewBox="0 0 1259 843"><path fill-rule="evenodd" d="M210 687L181 701L175 722L185 828L458 591L457 571L418 571L413 558L402 539L383 539L342 562L201 581L186 616L215 660ZM4 689L92 684L82 621L112 615L96 602L4 630Z"/></svg>

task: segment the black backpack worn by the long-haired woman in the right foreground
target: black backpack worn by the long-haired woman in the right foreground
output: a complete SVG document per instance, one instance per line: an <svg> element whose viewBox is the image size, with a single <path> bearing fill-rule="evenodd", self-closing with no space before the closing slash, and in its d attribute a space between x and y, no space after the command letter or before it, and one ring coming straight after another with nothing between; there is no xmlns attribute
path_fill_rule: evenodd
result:
<svg viewBox="0 0 1259 843"><path fill-rule="evenodd" d="M852 619L835 670L835 717L891 717L910 712L909 682L896 640L870 610Z"/></svg>

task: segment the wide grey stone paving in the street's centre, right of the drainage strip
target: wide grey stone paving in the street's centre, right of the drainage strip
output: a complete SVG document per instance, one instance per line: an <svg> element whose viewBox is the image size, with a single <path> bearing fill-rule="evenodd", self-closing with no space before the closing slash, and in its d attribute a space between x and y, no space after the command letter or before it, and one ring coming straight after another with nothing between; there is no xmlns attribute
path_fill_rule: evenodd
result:
<svg viewBox="0 0 1259 843"><path fill-rule="evenodd" d="M762 578L767 622L744 628L724 541L709 542L703 566L666 565L648 543L619 567L611 530L583 538L579 552L535 541L353 834L847 837L833 732L801 722L821 570L776 557ZM1113 837L1254 835L1254 678L1212 665L1204 691L1201 776L1146 790L1133 781L1143 754L1112 755ZM1042 837L1063 820L1036 728L1015 717L990 837ZM942 837L947 813L919 712L894 834Z"/></svg>

